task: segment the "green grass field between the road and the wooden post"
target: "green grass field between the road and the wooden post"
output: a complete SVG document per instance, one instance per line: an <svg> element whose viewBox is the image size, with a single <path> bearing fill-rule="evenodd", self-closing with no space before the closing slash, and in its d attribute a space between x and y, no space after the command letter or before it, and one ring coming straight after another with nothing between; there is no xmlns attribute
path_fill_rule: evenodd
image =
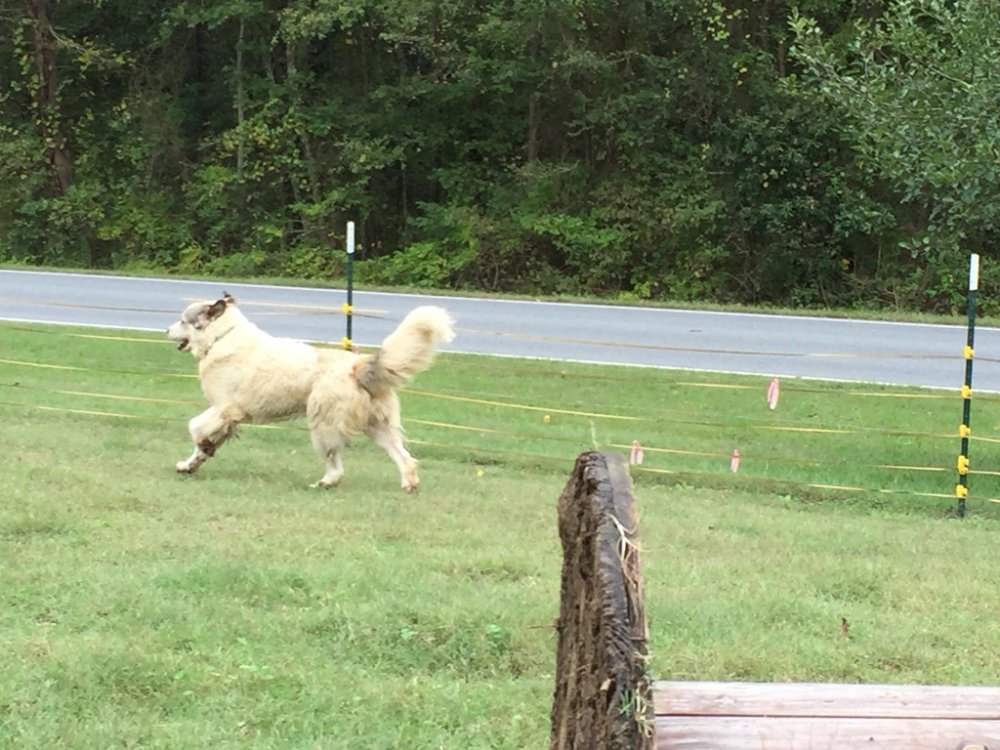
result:
<svg viewBox="0 0 1000 750"><path fill-rule="evenodd" d="M997 682L998 401L958 520L957 388L786 380L770 411L767 378L446 355L403 394L411 497L364 440L310 489L297 423L177 476L189 356L0 340L0 747L544 747L556 500L636 439L655 676Z"/></svg>

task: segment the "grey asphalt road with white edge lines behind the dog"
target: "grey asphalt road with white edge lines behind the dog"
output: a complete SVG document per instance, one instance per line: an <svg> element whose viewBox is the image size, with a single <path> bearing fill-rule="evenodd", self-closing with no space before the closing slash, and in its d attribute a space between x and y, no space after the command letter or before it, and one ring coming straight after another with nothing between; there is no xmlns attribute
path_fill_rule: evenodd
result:
<svg viewBox="0 0 1000 750"><path fill-rule="evenodd" d="M165 331L228 291L271 333L339 342L343 290L0 270L0 319ZM955 388L964 325L355 292L353 339L376 345L418 304L457 320L447 349L502 356ZM976 331L973 385L1000 388L1000 329Z"/></svg>

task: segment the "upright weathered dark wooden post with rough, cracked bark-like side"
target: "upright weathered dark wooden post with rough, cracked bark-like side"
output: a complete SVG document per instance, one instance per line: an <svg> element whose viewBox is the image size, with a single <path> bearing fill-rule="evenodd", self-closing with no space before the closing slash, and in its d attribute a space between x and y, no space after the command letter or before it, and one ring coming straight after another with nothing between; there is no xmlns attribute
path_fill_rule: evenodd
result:
<svg viewBox="0 0 1000 750"><path fill-rule="evenodd" d="M617 453L576 460L559 497L562 595L551 750L652 750L648 627L632 481Z"/></svg>

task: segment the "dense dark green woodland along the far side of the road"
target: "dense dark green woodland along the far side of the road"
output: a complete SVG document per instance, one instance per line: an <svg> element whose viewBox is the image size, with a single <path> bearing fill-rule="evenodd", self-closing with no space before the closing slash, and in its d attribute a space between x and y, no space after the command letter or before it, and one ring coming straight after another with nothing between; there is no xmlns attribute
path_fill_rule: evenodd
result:
<svg viewBox="0 0 1000 750"><path fill-rule="evenodd" d="M7 262L948 312L998 235L996 3L2 7Z"/></svg>

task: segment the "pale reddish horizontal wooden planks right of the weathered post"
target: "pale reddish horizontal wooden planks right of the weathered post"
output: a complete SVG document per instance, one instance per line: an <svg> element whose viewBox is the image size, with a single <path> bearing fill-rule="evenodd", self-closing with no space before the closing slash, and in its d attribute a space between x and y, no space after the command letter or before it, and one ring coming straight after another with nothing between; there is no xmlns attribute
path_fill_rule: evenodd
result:
<svg viewBox="0 0 1000 750"><path fill-rule="evenodd" d="M657 682L657 750L1000 750L1000 688Z"/></svg>

